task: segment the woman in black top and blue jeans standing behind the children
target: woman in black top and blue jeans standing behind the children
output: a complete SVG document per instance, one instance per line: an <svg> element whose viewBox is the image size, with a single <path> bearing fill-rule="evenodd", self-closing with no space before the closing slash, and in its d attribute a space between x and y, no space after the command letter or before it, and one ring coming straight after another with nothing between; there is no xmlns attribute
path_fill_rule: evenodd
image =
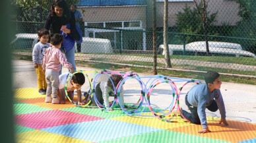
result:
<svg viewBox="0 0 256 143"><path fill-rule="evenodd" d="M69 10L65 0L53 0L44 28L49 30L50 27L52 28L51 34L63 34L64 40L61 49L65 53L67 61L76 71L75 40L79 41L82 37L75 24L75 15ZM61 70L59 74L61 74Z"/></svg>

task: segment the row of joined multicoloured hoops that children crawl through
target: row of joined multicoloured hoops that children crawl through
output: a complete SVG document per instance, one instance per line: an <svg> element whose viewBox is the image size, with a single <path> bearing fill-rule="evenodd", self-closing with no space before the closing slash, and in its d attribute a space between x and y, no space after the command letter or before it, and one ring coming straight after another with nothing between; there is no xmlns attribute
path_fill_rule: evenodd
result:
<svg viewBox="0 0 256 143"><path fill-rule="evenodd" d="M100 79L105 78L104 79L105 81L110 80L112 82L113 97L115 97L113 98L112 101L110 101L111 103L110 108L112 108L115 103L119 103L119 106L121 107L121 110L123 111L123 113L129 116L142 115L142 116L152 117L153 115L153 117L157 117L161 121L165 121L165 122L175 122L175 121L172 121L172 119L173 117L176 117L176 116L183 117L182 113L180 112L180 105L179 105L179 98L180 98L182 89L189 83L195 83L195 84L201 83L199 80L196 80L196 79L174 78L171 76L164 76L164 75L139 76L136 72L120 72L120 71L110 71L106 69L102 71L78 71L78 72L84 73L88 78L88 81L90 81L89 82L90 89L88 90L88 93L90 93L91 98L93 97L96 103L96 106L102 109L102 111L108 111L108 109L106 109L104 105L102 105L102 103L98 101L98 99L96 98L95 90L96 90L96 85L101 81ZM94 76L90 78L87 75L88 72L94 72ZM117 84L116 87L110 78L112 74L118 74L123 76L123 79ZM71 74L71 76L72 75L73 74ZM69 78L71 76L69 76ZM69 80L69 78L67 78L67 80ZM121 87L128 80L135 80L137 84L139 84L139 87L137 86L135 87L135 88L139 88L140 90L139 99L137 100L136 103L124 103L125 105L121 105L121 101L120 101ZM176 85L177 82L183 82L182 86L178 88ZM150 101L150 95L152 94L152 90L154 90L154 88L156 88L157 86L160 86L160 84L168 84L168 86L170 86L170 91L172 92L170 94L170 97L172 97L169 102L170 104L167 107L164 107L164 109L152 107L152 103ZM65 88L65 93L67 96L66 88ZM68 96L67 98L69 99ZM159 96L159 98L161 97ZM71 102L75 103L74 101L71 101ZM91 101L88 101L85 105L78 105L78 106L91 107L89 106L90 102ZM143 115L143 113L152 113L152 115ZM185 117L183 117L183 119L185 119ZM187 119L185 120L187 121Z"/></svg>

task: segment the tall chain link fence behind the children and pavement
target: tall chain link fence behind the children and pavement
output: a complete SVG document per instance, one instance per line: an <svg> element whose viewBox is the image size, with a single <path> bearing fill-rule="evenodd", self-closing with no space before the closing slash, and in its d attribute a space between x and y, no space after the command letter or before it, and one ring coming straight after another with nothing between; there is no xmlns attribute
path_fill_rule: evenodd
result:
<svg viewBox="0 0 256 143"><path fill-rule="evenodd" d="M52 1L14 0L16 55L32 56L37 31L44 27ZM164 0L73 0L82 13L83 42L77 61L153 67L156 23L157 67L166 67L164 32L171 67L256 76L256 1L169 0L164 31ZM77 47L76 47L77 48Z"/></svg>

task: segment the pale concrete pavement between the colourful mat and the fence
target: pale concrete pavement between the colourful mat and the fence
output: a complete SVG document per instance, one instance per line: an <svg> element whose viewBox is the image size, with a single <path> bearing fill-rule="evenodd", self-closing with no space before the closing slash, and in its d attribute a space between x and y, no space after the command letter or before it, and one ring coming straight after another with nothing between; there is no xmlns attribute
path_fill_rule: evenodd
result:
<svg viewBox="0 0 256 143"><path fill-rule="evenodd" d="M77 69L83 71L96 71L100 69L93 69L89 67L77 67ZM67 69L63 69L63 72L67 72ZM148 74L138 73L139 76L150 76ZM148 79L144 79L146 82ZM180 87L183 83L177 83L177 87ZM193 84L188 84L186 88L183 89L180 98L180 104L183 109L185 107L183 98L185 93L191 88ZM13 60L13 88L37 88L36 85L36 72L34 71L32 61L22 61L22 60ZM124 84L124 90L126 90L125 99L134 100L137 99L135 95L139 91L139 84L136 81L127 81ZM226 115L227 119L235 121L245 121L249 123L256 123L256 86L249 84L236 84L230 82L222 82L222 88L220 88L222 96L224 98L224 103L226 105ZM170 92L170 86L162 85L154 94L162 95L154 98L150 97L150 101L156 107L161 105L167 105L169 102L166 102L164 96L166 91ZM208 116L220 116L218 111L212 113L207 111Z"/></svg>

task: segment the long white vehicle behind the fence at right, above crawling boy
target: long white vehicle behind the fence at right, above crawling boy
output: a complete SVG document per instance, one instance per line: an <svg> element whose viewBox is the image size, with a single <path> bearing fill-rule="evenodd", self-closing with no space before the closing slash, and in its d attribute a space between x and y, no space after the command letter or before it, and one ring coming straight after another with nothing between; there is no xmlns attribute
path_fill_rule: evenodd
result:
<svg viewBox="0 0 256 143"><path fill-rule="evenodd" d="M228 42L208 42L209 51L212 55L226 55L226 56L236 56L236 57L255 57L254 53L245 51L242 49L241 45L238 43L228 43ZM203 55L207 52L205 42L191 42L187 43L185 47L183 45L173 45L169 44L170 55L176 55L179 53L181 55L183 52L189 53L191 55ZM160 51L164 55L164 45L160 45Z"/></svg>

